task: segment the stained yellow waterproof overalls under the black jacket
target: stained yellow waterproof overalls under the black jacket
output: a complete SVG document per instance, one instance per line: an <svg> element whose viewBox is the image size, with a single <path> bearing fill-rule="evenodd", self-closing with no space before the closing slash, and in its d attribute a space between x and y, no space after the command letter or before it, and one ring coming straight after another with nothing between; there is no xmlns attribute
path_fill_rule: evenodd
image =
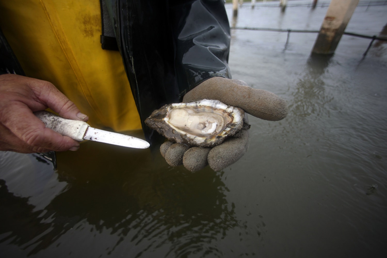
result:
<svg viewBox="0 0 387 258"><path fill-rule="evenodd" d="M91 126L141 128L120 53L101 49L98 0L0 0L0 26L26 75L57 86Z"/></svg>

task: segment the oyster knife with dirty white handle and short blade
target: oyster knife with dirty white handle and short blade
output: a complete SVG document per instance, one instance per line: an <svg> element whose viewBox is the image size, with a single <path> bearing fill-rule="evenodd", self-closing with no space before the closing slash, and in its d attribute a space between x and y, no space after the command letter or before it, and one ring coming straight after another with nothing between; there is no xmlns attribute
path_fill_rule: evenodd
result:
<svg viewBox="0 0 387 258"><path fill-rule="evenodd" d="M138 149L146 149L149 147L149 143L145 140L121 133L92 128L84 121L65 119L48 111L37 111L34 114L45 123L47 128L61 135L73 138L78 142L92 140Z"/></svg>

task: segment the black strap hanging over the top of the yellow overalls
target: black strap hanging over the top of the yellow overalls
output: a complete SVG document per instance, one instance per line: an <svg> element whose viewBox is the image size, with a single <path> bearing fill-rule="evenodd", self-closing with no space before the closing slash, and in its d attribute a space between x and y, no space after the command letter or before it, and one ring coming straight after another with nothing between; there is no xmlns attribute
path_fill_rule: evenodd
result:
<svg viewBox="0 0 387 258"><path fill-rule="evenodd" d="M111 24L110 15L104 0L99 0L101 5L101 22L102 35L101 46L104 50L118 51L117 40L114 34L113 25Z"/></svg>

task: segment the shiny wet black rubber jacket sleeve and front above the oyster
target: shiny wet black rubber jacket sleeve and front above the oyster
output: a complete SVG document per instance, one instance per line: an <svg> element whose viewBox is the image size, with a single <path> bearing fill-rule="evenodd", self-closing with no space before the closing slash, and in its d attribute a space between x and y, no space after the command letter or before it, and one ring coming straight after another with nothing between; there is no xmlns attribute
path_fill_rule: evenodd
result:
<svg viewBox="0 0 387 258"><path fill-rule="evenodd" d="M146 139L144 120L214 76L229 78L230 29L223 0L105 0Z"/></svg>

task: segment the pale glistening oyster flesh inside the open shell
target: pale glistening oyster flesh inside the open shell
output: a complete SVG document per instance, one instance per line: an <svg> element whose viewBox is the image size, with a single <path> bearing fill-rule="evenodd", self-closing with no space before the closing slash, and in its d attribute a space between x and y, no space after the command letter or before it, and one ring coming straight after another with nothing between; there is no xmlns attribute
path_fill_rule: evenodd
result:
<svg viewBox="0 0 387 258"><path fill-rule="evenodd" d="M216 111L214 111L216 112ZM232 119L217 113L195 111L190 108L173 109L169 123L176 128L197 136L212 136L221 132Z"/></svg>

